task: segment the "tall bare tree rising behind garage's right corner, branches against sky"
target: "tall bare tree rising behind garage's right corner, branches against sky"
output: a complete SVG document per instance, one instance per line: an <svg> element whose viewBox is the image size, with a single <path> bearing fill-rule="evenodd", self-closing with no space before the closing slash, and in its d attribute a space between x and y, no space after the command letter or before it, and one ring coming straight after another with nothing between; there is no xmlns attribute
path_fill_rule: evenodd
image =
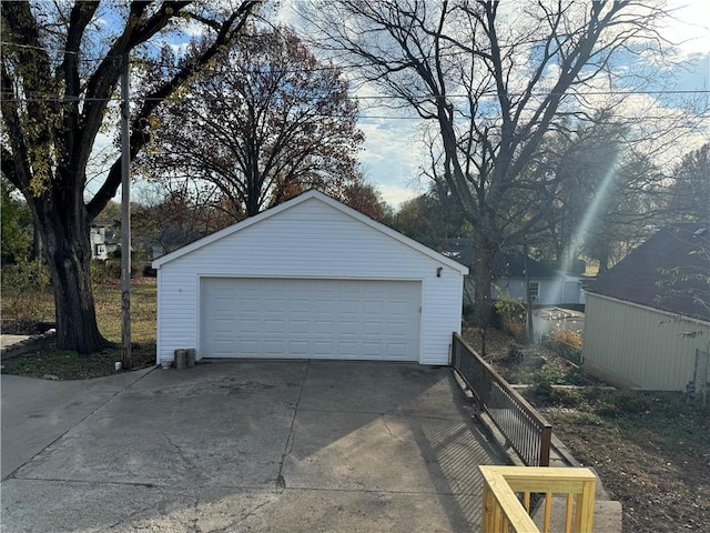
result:
<svg viewBox="0 0 710 533"><path fill-rule="evenodd" d="M645 1L339 0L304 17L320 44L435 124L440 178L474 229L476 319L490 321L491 257L545 229L559 184L528 172L545 133L584 113L617 53L658 42ZM539 162L539 161L538 161Z"/></svg>

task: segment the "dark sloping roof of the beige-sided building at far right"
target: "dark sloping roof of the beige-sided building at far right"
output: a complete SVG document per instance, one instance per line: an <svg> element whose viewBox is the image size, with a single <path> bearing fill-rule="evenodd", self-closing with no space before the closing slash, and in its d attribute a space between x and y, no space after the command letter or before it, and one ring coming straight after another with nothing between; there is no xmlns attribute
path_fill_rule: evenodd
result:
<svg viewBox="0 0 710 533"><path fill-rule="evenodd" d="M710 321L709 254L710 223L673 224L652 235L585 290ZM673 269L680 276L668 285Z"/></svg>

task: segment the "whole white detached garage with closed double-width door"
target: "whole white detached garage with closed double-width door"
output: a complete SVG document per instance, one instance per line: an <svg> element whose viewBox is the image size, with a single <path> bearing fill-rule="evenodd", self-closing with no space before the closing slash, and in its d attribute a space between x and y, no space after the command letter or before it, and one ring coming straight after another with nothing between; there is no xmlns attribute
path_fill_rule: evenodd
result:
<svg viewBox="0 0 710 533"><path fill-rule="evenodd" d="M448 364L466 266L317 191L153 261L158 362Z"/></svg>

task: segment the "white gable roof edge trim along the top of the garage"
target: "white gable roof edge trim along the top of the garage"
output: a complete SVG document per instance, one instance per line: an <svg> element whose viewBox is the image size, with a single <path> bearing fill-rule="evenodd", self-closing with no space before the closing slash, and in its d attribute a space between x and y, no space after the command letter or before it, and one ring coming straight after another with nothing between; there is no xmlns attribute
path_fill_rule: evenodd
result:
<svg viewBox="0 0 710 533"><path fill-rule="evenodd" d="M266 211L262 211L261 213L254 215L254 217L250 217L248 219L245 219L241 222L237 222L236 224L232 224L227 228L224 228L223 230L216 231L207 237L204 237L202 239L200 239L199 241L194 241L185 247L182 247L178 250L175 250L174 252L168 253L165 255L162 255L160 258L158 258L156 260L153 261L153 268L154 269L159 269L161 265L169 263L171 261L176 260L178 258L181 258L183 255L186 255L191 252L194 252L195 250L199 250L203 247L206 247L207 244L211 244L215 241L219 241L220 239L224 239L225 237L229 237L233 233L236 233L241 230L244 230L246 228L250 228L253 224L257 224L263 220L270 219L272 217L277 215L278 213L290 210L290 209L294 209L297 205L311 200L311 199L315 199L318 200L327 205L329 205L333 209L336 209L337 211L357 220L358 222L368 225L369 228L372 228L374 231L378 231L381 233L386 234L387 237L394 239L395 241L398 241L399 243L412 248L416 251L418 251L419 253L434 259L435 261L438 261L439 263L444 263L447 266L450 266L452 269L460 272L462 274L467 274L468 273L468 268L462 265L460 263L454 261L453 259L449 259L445 255L442 255L439 252L436 252L435 250L432 250L430 248L425 247L424 244L415 241L414 239L409 239L406 235L403 235L402 233L399 233L398 231L393 230L392 228L386 227L385 224L382 224L379 222L374 221L373 219L371 219L369 217L364 215L363 213L361 213L359 211L356 211L352 208L348 208L347 205L345 205L344 203L338 202L337 200L335 200L332 197L328 197L327 194L324 194L320 191L316 191L315 189L312 189L310 191L306 191L284 203L281 203L278 205L276 205L275 208L271 208L267 209Z"/></svg>

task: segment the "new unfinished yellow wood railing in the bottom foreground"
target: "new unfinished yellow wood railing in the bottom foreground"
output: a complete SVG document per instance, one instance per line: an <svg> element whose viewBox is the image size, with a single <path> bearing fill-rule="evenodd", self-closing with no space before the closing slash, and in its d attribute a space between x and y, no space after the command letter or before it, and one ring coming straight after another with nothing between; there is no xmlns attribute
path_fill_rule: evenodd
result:
<svg viewBox="0 0 710 533"><path fill-rule="evenodd" d="M540 466L479 466L484 476L483 533L591 533L597 477L589 469ZM544 494L542 529L530 517L530 495ZM554 497L561 494L562 499ZM565 503L564 514L552 510Z"/></svg>

